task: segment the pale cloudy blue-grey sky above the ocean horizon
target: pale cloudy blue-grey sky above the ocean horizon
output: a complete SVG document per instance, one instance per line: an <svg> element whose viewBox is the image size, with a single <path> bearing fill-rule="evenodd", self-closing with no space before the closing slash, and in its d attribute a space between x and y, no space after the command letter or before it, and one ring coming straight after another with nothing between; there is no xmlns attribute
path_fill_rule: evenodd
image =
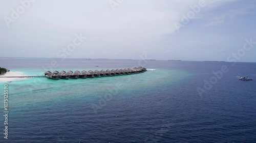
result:
<svg viewBox="0 0 256 143"><path fill-rule="evenodd" d="M255 0L0 0L0 17L0 57L256 62Z"/></svg>

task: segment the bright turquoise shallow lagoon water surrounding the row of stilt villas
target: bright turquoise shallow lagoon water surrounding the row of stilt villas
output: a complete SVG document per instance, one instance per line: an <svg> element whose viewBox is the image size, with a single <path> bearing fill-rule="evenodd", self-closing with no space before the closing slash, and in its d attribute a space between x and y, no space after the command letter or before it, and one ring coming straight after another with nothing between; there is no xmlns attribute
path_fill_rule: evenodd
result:
<svg viewBox="0 0 256 143"><path fill-rule="evenodd" d="M76 69L73 69L75 71ZM26 75L38 75L39 69L17 69L12 71L23 72ZM61 71L61 70L59 70ZM66 70L69 71L69 70ZM81 71L81 70L80 70ZM118 93L127 93L140 91L141 89L157 88L155 84L175 84L189 73L182 70L161 70L154 69L142 74L87 78L87 79L69 79L69 80L51 80L47 78L25 78L8 83L10 88L11 108L20 108L46 101L58 101L70 98L95 98L102 95ZM41 75L41 74L40 74ZM165 78L172 80L164 81ZM3 83L2 83L3 85Z"/></svg>

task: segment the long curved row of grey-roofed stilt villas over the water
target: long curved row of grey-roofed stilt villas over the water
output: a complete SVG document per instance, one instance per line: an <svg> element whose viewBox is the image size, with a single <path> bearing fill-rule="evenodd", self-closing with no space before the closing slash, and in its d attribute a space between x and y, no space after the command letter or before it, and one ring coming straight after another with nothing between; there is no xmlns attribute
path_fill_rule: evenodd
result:
<svg viewBox="0 0 256 143"><path fill-rule="evenodd" d="M94 78L94 77L104 77L104 76L118 76L118 75L129 75L136 73L143 73L146 71L146 68L135 67L133 69L113 69L113 70L101 70L101 71L47 71L45 72L45 76L49 79L78 79L78 78Z"/></svg>

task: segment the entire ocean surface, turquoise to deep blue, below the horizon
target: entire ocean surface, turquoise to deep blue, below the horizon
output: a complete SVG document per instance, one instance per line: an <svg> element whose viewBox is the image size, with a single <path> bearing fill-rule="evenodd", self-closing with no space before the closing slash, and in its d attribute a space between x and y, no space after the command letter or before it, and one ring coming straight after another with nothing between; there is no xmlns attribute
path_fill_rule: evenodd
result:
<svg viewBox="0 0 256 143"><path fill-rule="evenodd" d="M147 68L114 77L0 82L0 142L256 142L256 63L13 58L0 59L0 66L26 75Z"/></svg>

